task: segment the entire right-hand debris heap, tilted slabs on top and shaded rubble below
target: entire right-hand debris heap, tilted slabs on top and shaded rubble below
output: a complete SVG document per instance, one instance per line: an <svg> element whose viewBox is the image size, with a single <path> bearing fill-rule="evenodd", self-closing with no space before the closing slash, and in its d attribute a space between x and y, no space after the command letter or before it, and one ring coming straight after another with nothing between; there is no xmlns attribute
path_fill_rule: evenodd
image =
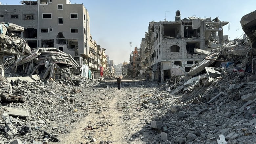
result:
<svg viewBox="0 0 256 144"><path fill-rule="evenodd" d="M195 49L207 56L186 76L169 79L160 87L154 95L160 100L150 109L161 113L152 117L149 127L161 131L161 140L256 143L255 19L256 11L241 19L243 29L249 29L249 38L211 44L210 52ZM176 105L170 105L173 103ZM144 108L150 105L143 103Z"/></svg>

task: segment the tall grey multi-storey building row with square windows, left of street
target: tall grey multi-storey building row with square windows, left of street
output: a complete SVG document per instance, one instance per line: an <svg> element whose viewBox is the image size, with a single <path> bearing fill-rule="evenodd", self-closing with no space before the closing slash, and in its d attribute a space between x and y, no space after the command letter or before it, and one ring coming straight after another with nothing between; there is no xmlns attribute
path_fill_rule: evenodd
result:
<svg viewBox="0 0 256 144"><path fill-rule="evenodd" d="M0 5L0 21L24 27L17 35L31 48L50 47L70 54L91 74L103 73L97 43L90 34L90 17L83 4L69 0L21 1L22 5ZM87 65L87 66L85 66Z"/></svg>

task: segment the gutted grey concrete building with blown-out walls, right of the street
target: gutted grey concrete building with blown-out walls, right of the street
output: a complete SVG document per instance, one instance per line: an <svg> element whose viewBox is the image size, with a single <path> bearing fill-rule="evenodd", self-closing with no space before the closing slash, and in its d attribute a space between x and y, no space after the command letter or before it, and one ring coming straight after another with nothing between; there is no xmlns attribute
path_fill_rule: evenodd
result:
<svg viewBox="0 0 256 144"><path fill-rule="evenodd" d="M145 39L141 41L142 66L144 72L166 80L174 75L187 75L190 68L205 56L195 49L207 50L211 42L223 44L222 22L218 18L200 19L189 17L181 20L180 11L175 21L150 22ZM145 56L145 58L144 58Z"/></svg>

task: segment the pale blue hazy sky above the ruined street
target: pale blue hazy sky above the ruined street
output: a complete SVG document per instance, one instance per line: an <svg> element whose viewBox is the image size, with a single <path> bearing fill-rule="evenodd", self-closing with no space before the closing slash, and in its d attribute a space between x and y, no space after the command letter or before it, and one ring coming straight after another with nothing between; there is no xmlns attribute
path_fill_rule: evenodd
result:
<svg viewBox="0 0 256 144"><path fill-rule="evenodd" d="M3 4L19 5L21 0L0 0ZM54 2L54 0L53 0ZM243 30L240 25L242 16L256 10L255 0L71 0L71 3L83 4L89 11L90 31L94 40L114 64L129 61L130 44L132 51L140 47L150 21L175 21L175 12L180 10L181 19L196 17L230 22L224 26L224 35L233 40L240 37Z"/></svg>

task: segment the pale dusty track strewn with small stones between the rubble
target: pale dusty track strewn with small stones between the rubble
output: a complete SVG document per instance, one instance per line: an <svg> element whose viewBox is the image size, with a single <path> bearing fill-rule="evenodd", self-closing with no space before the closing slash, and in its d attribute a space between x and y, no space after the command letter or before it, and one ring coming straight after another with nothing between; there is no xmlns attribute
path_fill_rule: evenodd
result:
<svg viewBox="0 0 256 144"><path fill-rule="evenodd" d="M115 81L102 83L83 90L83 96L76 98L77 103L85 103L85 107L79 108L78 113L87 113L87 116L71 124L72 130L61 134L58 137L59 143L151 142L150 129L143 130L143 127L151 122L151 114L145 109L141 111L140 107L144 99L141 95L149 93L154 87L142 86L140 81L123 80L121 90L117 90ZM85 130L88 126L93 126L93 129ZM96 142L90 142L93 138Z"/></svg>

